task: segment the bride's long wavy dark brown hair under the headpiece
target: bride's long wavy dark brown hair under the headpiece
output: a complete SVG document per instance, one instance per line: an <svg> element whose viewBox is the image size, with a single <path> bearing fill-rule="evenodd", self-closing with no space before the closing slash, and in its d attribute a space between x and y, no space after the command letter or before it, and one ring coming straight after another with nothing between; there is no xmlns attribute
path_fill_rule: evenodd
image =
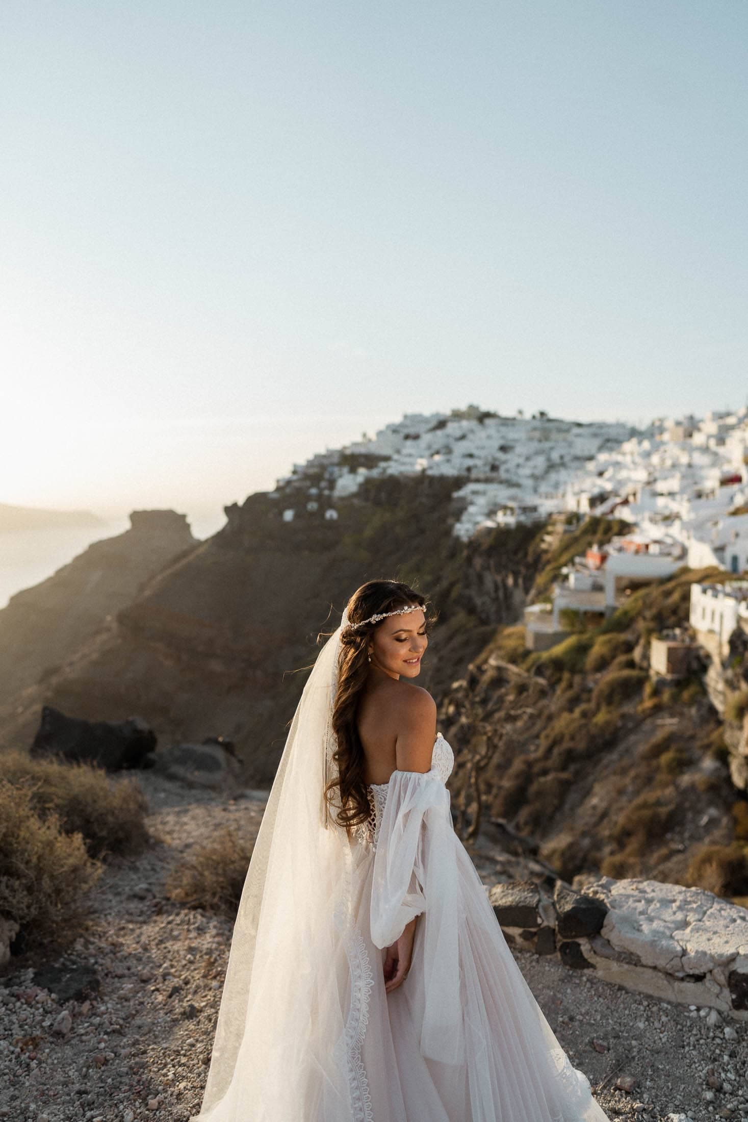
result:
<svg viewBox="0 0 748 1122"><path fill-rule="evenodd" d="M370 616L384 611L395 611L396 608L407 608L417 605L424 609L426 625L433 622L430 615L428 601L409 585L397 580L369 580L357 588L347 605L349 623L361 623ZM354 826L364 822L370 813L369 794L364 780L366 761L363 745L357 726L357 714L361 691L369 673L367 646L372 632L381 626L381 620L364 624L351 631L344 628L340 636L340 655L338 662L338 689L333 708L332 725L338 746L333 760L338 767L338 776L331 780L324 789L327 812L332 812L333 801L336 806L335 819L349 833Z"/></svg>

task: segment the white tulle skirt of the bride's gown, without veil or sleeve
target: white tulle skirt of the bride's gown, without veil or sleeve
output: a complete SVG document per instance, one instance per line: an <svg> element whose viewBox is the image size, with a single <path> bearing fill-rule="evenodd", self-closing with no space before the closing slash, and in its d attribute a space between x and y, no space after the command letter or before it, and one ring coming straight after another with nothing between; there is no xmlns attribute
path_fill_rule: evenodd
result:
<svg viewBox="0 0 748 1122"><path fill-rule="evenodd" d="M370 939L373 853L359 847L354 865L361 987L360 1082L363 1122L606 1122L590 1084L572 1064L527 985L496 920L475 867L456 837L461 925L460 1003L464 1058L428 1059L419 1046L428 976L423 917L405 982L385 991L385 950Z"/></svg>

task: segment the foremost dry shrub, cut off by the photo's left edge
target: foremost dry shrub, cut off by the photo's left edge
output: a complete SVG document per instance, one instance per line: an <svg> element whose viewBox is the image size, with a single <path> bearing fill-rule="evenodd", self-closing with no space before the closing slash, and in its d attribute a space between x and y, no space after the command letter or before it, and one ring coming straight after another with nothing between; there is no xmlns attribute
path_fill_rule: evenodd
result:
<svg viewBox="0 0 748 1122"><path fill-rule="evenodd" d="M29 790L0 780L0 916L28 949L75 940L101 872L80 834L63 833L54 812L39 818Z"/></svg>

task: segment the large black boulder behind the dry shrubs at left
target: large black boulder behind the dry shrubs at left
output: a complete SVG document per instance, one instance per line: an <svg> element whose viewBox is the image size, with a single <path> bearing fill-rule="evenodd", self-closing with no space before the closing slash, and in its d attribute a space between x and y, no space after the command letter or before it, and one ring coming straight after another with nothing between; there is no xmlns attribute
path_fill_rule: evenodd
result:
<svg viewBox="0 0 748 1122"><path fill-rule="evenodd" d="M140 717L83 720L45 705L31 745L33 756L55 755L95 763L107 771L153 767L156 734Z"/></svg>

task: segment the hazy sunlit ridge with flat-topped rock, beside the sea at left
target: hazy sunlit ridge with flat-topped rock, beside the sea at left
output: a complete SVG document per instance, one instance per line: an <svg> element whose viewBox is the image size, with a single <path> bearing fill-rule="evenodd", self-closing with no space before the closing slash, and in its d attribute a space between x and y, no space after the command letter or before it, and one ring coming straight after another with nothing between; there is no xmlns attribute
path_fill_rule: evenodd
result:
<svg viewBox="0 0 748 1122"><path fill-rule="evenodd" d="M148 578L197 544L185 515L133 511L130 530L94 542L12 596L0 609L0 711L64 664Z"/></svg>

